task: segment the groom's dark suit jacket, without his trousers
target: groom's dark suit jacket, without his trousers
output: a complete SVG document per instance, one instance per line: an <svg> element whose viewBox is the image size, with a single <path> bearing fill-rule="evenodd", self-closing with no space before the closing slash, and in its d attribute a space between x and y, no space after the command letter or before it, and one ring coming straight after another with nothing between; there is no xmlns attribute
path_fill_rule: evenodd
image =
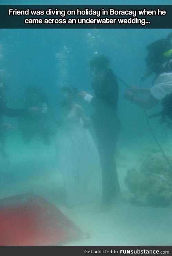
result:
<svg viewBox="0 0 172 256"><path fill-rule="evenodd" d="M93 82L95 96L90 104L95 108L95 113L90 117L96 130L114 133L119 130L120 122L117 115L119 87L115 75L110 68L100 83Z"/></svg>

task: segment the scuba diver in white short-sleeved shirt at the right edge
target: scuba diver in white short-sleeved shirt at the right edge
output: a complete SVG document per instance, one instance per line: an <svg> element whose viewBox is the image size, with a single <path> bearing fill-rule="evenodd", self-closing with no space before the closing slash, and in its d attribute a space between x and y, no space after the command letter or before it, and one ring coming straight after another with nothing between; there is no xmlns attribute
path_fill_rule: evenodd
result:
<svg viewBox="0 0 172 256"><path fill-rule="evenodd" d="M151 88L139 88L131 86L123 97L130 100L143 109L152 109L159 102L162 111L150 115L149 118L161 116L160 124L166 122L172 127L172 33L166 39L160 39L146 46L146 69L141 78L142 81L148 76L155 74ZM148 94L147 99L139 98L136 93Z"/></svg>

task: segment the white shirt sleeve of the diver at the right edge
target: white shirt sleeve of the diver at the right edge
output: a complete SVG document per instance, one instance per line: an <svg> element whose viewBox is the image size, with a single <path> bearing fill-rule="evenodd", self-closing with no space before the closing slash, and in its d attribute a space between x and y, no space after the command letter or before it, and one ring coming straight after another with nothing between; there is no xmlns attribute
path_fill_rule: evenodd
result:
<svg viewBox="0 0 172 256"><path fill-rule="evenodd" d="M166 95L172 93L172 73L162 73L157 77L153 87L150 89L154 98L162 100Z"/></svg>

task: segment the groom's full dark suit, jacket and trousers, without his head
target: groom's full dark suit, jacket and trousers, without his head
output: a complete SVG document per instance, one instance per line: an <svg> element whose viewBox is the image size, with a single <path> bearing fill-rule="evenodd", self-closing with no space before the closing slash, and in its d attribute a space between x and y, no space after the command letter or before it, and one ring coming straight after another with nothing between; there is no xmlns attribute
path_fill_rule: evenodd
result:
<svg viewBox="0 0 172 256"><path fill-rule="evenodd" d="M120 196L120 187L115 163L115 148L120 130L117 115L119 88L112 70L107 69L101 83L94 82L95 97L91 105L96 109L90 117L97 135L97 147L102 171L102 202L111 203Z"/></svg>

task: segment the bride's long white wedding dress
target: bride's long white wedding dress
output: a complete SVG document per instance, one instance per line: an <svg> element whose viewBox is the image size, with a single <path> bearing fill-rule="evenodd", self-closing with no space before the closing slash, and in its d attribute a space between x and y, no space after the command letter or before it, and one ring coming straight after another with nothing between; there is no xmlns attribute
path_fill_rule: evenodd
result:
<svg viewBox="0 0 172 256"><path fill-rule="evenodd" d="M56 134L58 165L62 173L68 206L98 199L101 195L101 168L95 143L82 120L72 110L62 115Z"/></svg>

